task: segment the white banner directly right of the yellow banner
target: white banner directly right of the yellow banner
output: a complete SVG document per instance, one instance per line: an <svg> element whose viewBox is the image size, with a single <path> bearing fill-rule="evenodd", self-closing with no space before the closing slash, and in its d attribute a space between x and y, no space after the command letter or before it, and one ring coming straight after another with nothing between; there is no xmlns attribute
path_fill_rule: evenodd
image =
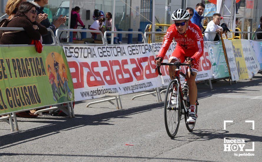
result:
<svg viewBox="0 0 262 162"><path fill-rule="evenodd" d="M246 67L248 70L248 77L252 78L254 75L258 73L260 65L258 63L258 59L256 58L256 54L249 40L241 39L241 44L242 44L243 54L246 62Z"/></svg>

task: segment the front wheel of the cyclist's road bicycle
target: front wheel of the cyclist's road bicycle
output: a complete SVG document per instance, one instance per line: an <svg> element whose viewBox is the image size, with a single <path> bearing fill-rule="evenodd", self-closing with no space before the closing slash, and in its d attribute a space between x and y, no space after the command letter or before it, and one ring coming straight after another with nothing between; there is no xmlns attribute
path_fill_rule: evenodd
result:
<svg viewBox="0 0 262 162"><path fill-rule="evenodd" d="M177 94L177 104L173 105L171 103L171 96L173 95L173 89L176 87L178 90ZM165 103L164 103L164 118L165 118L165 129L170 138L174 138L178 132L178 127L180 123L180 92L177 80L171 80L168 84L165 93Z"/></svg>

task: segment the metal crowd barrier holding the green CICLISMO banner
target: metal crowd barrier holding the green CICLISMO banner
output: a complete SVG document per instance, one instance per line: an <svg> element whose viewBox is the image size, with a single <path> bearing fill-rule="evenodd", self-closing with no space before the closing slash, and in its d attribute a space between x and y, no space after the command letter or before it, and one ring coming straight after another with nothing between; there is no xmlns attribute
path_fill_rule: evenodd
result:
<svg viewBox="0 0 262 162"><path fill-rule="evenodd" d="M3 27L0 27L0 30L24 31L24 28L3 28ZM52 31L52 29L47 29L47 31L51 33L53 43L52 44L43 44L43 46L58 46L57 40L55 38L55 35L54 35L54 32ZM0 47L34 47L34 45L33 44L7 44L7 45L0 44ZM64 103L61 103L61 104L64 104ZM44 108L44 109L38 110L34 114L39 114L41 116L42 112L49 111L51 109L52 110L61 109L65 114L67 114L69 116L69 118L75 117L74 108L73 108L73 101L72 102L66 102L65 104L66 105L60 105L59 104L59 106L53 106L51 108ZM49 107L49 106L46 106L46 107ZM33 109L39 109L39 108L32 108L31 110L33 110ZM28 111L28 110L21 110L21 111L17 111L17 112L13 112L13 113L6 113L7 116L1 117L0 120L4 120L6 123L8 123L10 125L11 131L14 131L14 128L15 128L15 130L19 130L17 119L16 119L16 113L23 112L23 111ZM2 114L2 115L5 115L5 114ZM14 119L14 125L13 125L12 119Z"/></svg>

